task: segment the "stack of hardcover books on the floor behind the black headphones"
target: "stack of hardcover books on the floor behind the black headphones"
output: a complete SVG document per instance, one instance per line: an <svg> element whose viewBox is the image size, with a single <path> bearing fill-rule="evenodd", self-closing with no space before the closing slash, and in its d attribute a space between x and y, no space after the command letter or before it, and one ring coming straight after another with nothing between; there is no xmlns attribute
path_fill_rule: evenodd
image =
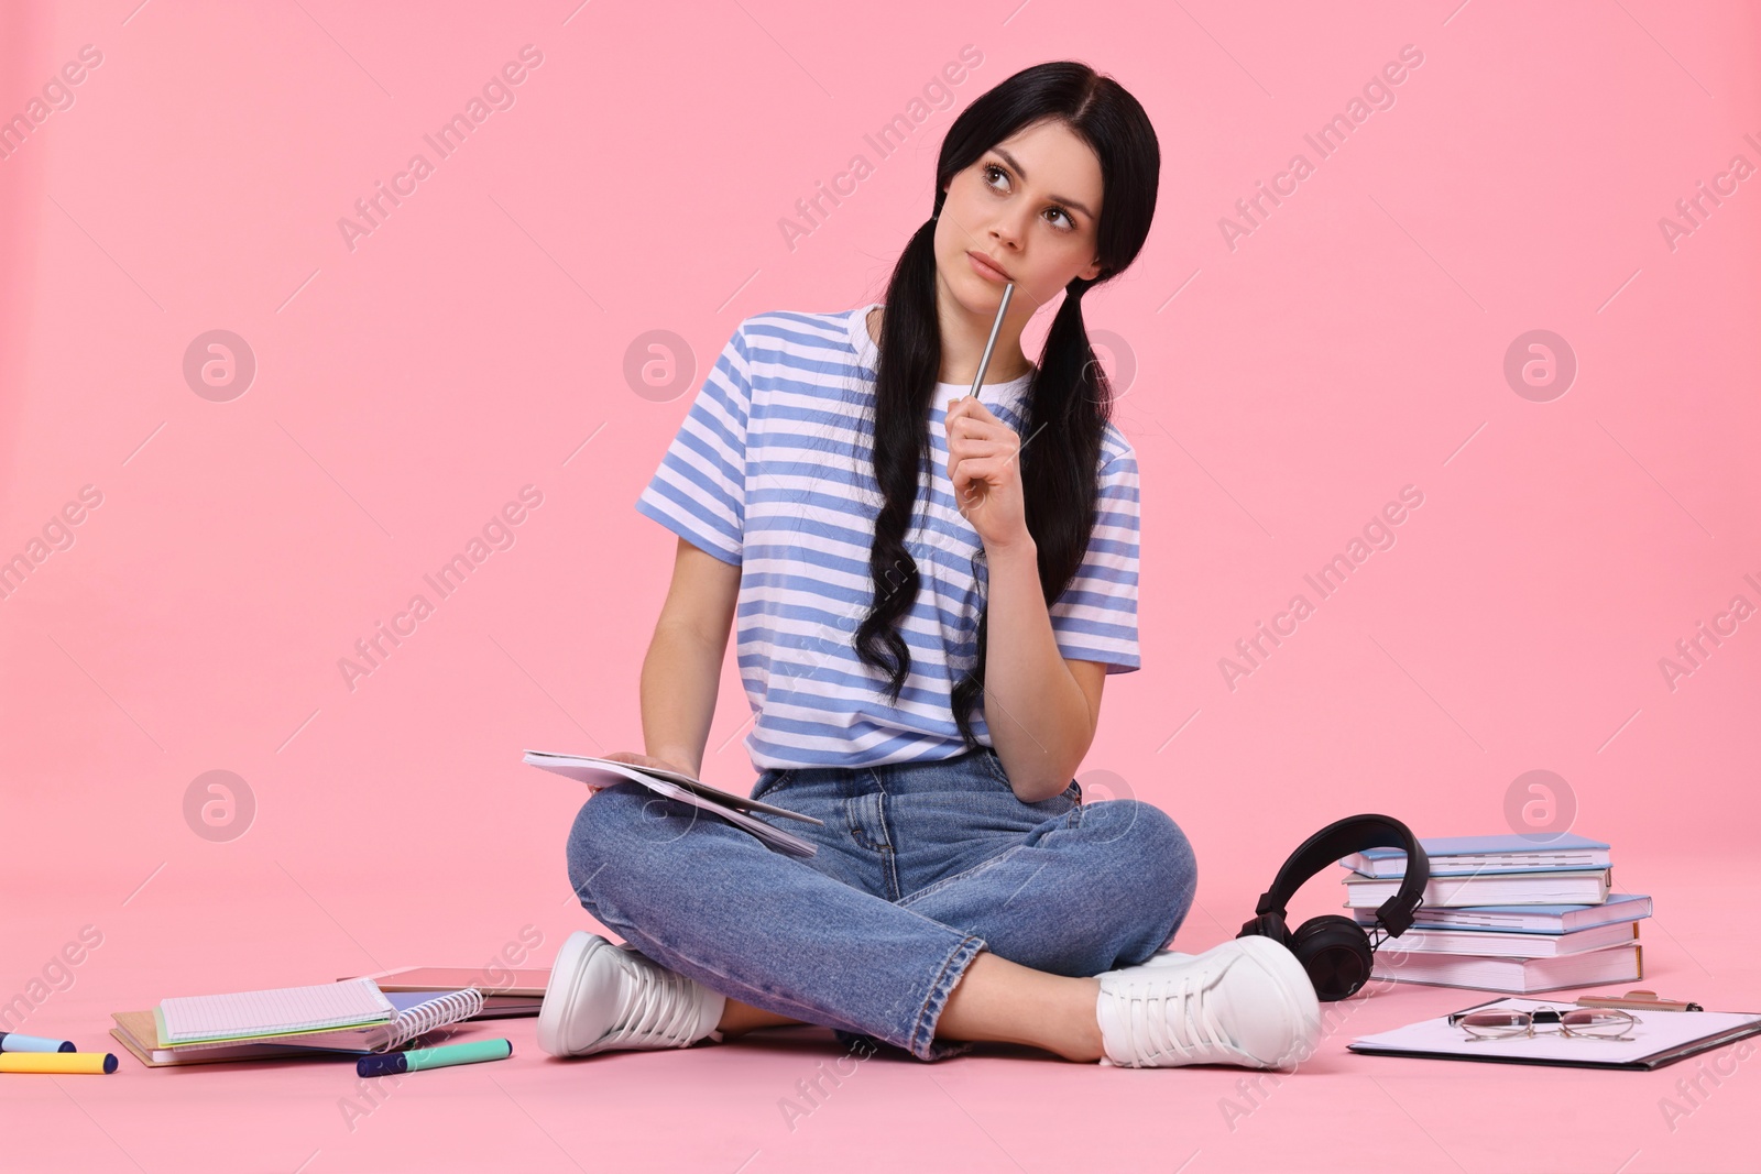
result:
<svg viewBox="0 0 1761 1174"><path fill-rule="evenodd" d="M1608 845L1564 834L1419 840L1430 882L1412 928L1375 947L1372 979L1532 994L1643 977L1638 922L1648 896L1610 892ZM1347 855L1345 906L1368 929L1400 891L1407 854ZM1381 936L1381 935L1377 935Z"/></svg>

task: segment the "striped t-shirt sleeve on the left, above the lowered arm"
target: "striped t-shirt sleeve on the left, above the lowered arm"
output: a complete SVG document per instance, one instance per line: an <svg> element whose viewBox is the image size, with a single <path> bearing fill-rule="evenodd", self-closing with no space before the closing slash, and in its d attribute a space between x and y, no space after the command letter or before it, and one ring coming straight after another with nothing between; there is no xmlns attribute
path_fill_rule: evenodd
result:
<svg viewBox="0 0 1761 1174"><path fill-rule="evenodd" d="M636 510L740 565L747 519L747 419L752 408L748 350L741 331L697 391Z"/></svg>

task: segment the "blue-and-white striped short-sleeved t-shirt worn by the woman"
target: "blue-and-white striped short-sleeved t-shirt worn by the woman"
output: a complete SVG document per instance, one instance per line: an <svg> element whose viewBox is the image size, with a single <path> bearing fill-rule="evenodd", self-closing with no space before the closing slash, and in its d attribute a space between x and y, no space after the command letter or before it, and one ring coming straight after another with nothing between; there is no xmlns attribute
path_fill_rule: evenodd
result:
<svg viewBox="0 0 1761 1174"><path fill-rule="evenodd" d="M942 415L970 384L939 384L930 410L933 484L919 489L905 546L921 590L900 634L910 674L891 704L886 678L852 641L873 600L868 549L877 349L868 312L759 313L704 378L636 509L740 567L740 679L757 720L745 737L770 767L928 762L965 750L953 688L977 660L984 544L954 505ZM1021 433L1030 375L986 384L979 403ZM1023 444L1030 438L1023 437ZM1060 655L1108 672L1138 655L1138 461L1108 424L1095 528L1076 577L1048 609ZM995 628L991 630L995 639ZM972 732L993 745L983 701Z"/></svg>

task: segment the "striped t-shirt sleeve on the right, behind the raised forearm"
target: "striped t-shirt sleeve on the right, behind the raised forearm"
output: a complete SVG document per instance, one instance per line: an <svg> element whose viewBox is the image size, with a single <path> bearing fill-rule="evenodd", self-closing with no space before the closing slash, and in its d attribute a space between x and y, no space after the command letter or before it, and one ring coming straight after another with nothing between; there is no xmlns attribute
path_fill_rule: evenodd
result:
<svg viewBox="0 0 1761 1174"><path fill-rule="evenodd" d="M1048 609L1058 655L1099 660L1108 672L1143 667L1138 649L1138 456L1101 470L1095 528L1076 577Z"/></svg>

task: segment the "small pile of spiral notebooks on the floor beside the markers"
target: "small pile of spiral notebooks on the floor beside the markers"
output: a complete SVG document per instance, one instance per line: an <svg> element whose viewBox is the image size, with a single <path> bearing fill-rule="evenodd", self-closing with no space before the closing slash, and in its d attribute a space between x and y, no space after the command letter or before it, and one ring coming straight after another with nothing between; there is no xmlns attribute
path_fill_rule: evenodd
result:
<svg viewBox="0 0 1761 1174"><path fill-rule="evenodd" d="M403 1047L483 1010L475 987L387 994L373 979L192 994L111 1016L111 1035L150 1068L227 1060L365 1054Z"/></svg>

